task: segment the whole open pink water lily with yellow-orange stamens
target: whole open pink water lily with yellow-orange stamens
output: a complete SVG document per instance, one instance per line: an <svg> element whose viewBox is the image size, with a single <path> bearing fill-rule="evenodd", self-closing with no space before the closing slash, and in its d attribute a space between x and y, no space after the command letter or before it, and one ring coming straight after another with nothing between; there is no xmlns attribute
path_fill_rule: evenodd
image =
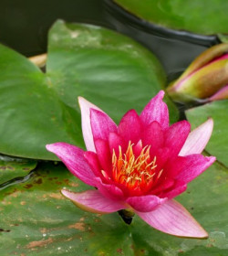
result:
<svg viewBox="0 0 228 256"><path fill-rule="evenodd" d="M97 106L79 98L88 151L48 144L73 175L97 187L82 193L62 190L79 208L97 213L135 212L150 226L181 237L207 237L191 214L173 200L215 157L201 155L212 133L212 119L190 133L190 123L169 126L160 91L138 115L127 112L117 126Z"/></svg>

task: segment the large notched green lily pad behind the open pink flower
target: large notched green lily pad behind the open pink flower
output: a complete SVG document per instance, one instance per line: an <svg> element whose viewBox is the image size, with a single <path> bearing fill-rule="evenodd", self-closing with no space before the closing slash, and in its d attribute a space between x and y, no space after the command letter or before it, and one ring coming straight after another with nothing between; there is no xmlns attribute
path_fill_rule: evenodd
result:
<svg viewBox="0 0 228 256"><path fill-rule="evenodd" d="M46 144L84 146L79 95L119 121L130 108L141 111L164 83L158 60L130 38L57 21L49 32L46 74L0 46L0 152L57 159ZM174 121L177 111L169 105Z"/></svg>

